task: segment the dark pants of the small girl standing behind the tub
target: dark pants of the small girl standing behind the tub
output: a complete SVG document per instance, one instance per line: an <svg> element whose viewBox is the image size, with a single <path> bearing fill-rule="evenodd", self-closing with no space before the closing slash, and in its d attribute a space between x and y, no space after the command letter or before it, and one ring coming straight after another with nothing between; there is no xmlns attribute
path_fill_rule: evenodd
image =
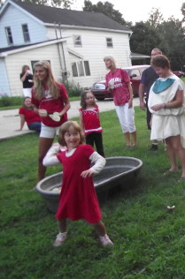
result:
<svg viewBox="0 0 185 279"><path fill-rule="evenodd" d="M104 157L102 132L90 132L89 135L86 136L86 143L92 147L94 147L95 143L97 153Z"/></svg>

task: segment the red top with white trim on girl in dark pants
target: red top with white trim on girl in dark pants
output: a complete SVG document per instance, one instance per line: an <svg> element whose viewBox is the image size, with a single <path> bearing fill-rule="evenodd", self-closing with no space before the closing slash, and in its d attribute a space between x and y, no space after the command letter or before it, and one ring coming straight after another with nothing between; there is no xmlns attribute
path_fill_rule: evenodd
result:
<svg viewBox="0 0 185 279"><path fill-rule="evenodd" d="M103 132L98 116L98 107L92 109L79 109L83 116L85 135L91 132Z"/></svg>

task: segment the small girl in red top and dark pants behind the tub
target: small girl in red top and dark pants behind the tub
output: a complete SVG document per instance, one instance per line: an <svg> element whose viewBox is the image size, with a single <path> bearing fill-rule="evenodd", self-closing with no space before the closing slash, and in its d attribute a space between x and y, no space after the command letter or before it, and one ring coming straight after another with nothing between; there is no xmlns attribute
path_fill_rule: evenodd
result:
<svg viewBox="0 0 185 279"><path fill-rule="evenodd" d="M80 122L81 130L86 137L86 143L94 147L99 155L104 156L102 139L103 129L99 120L99 109L95 102L95 96L91 91L81 94Z"/></svg>

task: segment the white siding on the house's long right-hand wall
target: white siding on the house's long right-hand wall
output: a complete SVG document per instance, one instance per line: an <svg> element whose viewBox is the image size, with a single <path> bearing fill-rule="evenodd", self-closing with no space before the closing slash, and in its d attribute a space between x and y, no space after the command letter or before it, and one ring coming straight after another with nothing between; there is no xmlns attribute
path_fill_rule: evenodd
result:
<svg viewBox="0 0 185 279"><path fill-rule="evenodd" d="M60 35L57 29L58 37ZM47 27L47 34L51 38L56 38L56 31L51 27ZM79 57L69 56L69 71L71 81L79 83L81 87L91 87L94 82L104 79L106 69L104 66L104 57L112 56L117 61L118 67L127 67L132 65L130 59L130 47L128 34L115 31L98 31L84 30L76 28L62 29L61 34L66 38L67 48L79 53L83 59ZM74 47L73 35L81 35L82 47ZM107 48L106 38L112 38L113 48ZM80 60L88 60L90 67L90 76L73 77L71 64Z"/></svg>

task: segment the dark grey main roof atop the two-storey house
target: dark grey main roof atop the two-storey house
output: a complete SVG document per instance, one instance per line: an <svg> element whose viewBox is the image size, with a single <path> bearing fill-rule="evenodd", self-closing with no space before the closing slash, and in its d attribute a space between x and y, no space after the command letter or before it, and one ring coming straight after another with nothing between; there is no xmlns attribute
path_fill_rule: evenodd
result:
<svg viewBox="0 0 185 279"><path fill-rule="evenodd" d="M11 2L18 4L19 7L35 16L35 18L40 19L45 24L57 23L65 26L86 26L132 32L127 26L120 25L100 12L73 11L42 4L20 2L18 0L9 1L9 3Z"/></svg>

